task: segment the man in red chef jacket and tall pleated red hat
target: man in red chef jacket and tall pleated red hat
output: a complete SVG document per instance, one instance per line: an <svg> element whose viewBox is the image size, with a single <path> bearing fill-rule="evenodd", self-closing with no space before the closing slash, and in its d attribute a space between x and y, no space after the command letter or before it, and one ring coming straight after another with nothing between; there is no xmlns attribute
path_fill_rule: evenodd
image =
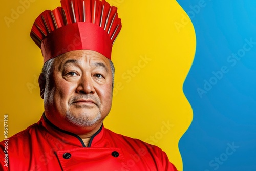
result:
<svg viewBox="0 0 256 171"><path fill-rule="evenodd" d="M112 105L111 49L120 29L105 1L61 1L32 27L44 67L40 121L1 142L2 170L176 170L158 147L105 129Z"/></svg>

